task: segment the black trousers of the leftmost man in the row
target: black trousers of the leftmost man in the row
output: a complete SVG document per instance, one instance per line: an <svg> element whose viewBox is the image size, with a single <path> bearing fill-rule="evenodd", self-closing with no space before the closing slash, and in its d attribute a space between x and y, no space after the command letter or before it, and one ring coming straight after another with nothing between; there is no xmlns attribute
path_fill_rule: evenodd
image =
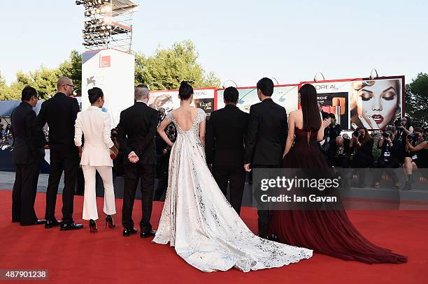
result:
<svg viewBox="0 0 428 284"><path fill-rule="evenodd" d="M35 158L25 165L16 165L12 191L13 222L20 221L21 225L30 225L37 221L34 202L36 201L40 163L41 159Z"/></svg>

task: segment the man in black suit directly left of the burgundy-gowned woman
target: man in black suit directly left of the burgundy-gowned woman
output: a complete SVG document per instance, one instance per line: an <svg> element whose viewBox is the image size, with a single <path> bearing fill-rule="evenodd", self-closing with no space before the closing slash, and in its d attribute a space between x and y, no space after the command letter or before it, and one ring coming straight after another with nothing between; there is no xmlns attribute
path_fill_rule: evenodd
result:
<svg viewBox="0 0 428 284"><path fill-rule="evenodd" d="M273 102L273 82L262 78L257 82L257 96L261 103L250 107L247 135L245 136L244 168L280 167L287 140L287 112ZM269 234L269 211L257 210L259 236Z"/></svg>

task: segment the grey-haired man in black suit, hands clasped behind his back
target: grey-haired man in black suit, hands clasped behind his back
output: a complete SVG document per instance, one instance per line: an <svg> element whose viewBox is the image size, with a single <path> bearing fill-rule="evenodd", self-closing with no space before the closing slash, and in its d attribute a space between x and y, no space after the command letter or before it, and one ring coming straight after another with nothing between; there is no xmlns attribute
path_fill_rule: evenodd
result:
<svg viewBox="0 0 428 284"><path fill-rule="evenodd" d="M117 138L124 152L124 193L122 207L123 236L128 237L138 230L132 221L132 209L138 181L141 179L141 237L153 237L152 216L153 190L156 176L155 134L159 114L148 107L149 89L140 84L136 87L136 103L120 113Z"/></svg>

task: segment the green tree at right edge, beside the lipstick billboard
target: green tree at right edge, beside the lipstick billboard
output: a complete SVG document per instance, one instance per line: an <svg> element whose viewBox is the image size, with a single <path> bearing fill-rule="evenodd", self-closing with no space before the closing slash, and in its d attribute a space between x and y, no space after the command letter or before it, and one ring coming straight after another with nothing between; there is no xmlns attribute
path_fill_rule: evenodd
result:
<svg viewBox="0 0 428 284"><path fill-rule="evenodd" d="M428 121L428 74L419 73L406 84L406 113L415 121Z"/></svg>

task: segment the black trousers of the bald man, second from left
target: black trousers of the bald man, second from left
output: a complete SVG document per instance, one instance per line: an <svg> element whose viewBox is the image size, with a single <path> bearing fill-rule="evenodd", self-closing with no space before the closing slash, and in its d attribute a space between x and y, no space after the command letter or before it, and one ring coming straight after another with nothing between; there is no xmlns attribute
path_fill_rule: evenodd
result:
<svg viewBox="0 0 428 284"><path fill-rule="evenodd" d="M50 150L50 174L46 190L45 219L55 220L55 205L59 180L64 172L64 190L62 190L62 221L73 223L73 199L76 188L76 177L79 167L77 149L70 151Z"/></svg>

